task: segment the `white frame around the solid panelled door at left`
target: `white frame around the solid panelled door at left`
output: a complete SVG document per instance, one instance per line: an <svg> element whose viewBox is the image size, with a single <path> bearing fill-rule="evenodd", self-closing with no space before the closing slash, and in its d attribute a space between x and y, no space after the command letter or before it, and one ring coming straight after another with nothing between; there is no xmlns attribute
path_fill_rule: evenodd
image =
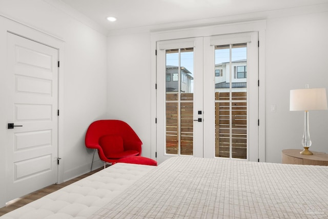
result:
<svg viewBox="0 0 328 219"><path fill-rule="evenodd" d="M14 33L19 36L31 39L37 43L41 43L55 49L58 49L58 58L60 60L60 68L58 70L58 109L60 110L60 116L58 117L58 157L64 156L64 45L65 42L60 37L46 33L42 30L35 29L24 23L14 21L11 18L0 16L0 46L1 48L7 48L7 32ZM6 72L7 69L7 50L0 51L0 72ZM0 74L0 100L4 102L6 98L6 84L4 74ZM5 106L0 106L0 110L4 110ZM5 136L8 123L8 118L4 115L0 116L0 135ZM5 138L0 138L0 145L6 145ZM0 147L0 174L6 175L6 147ZM63 160L62 160L63 161ZM63 162L58 165L57 183L64 182L64 165ZM0 178L0 207L6 205L6 180Z"/></svg>

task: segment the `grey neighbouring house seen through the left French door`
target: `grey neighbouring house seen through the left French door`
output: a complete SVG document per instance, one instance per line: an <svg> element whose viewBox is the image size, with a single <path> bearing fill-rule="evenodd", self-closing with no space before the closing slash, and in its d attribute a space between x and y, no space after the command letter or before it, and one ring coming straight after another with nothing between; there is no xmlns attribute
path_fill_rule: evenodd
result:
<svg viewBox="0 0 328 219"><path fill-rule="evenodd" d="M179 90L178 66L166 66L166 92L176 92ZM192 92L192 73L185 67L181 67L181 92Z"/></svg>

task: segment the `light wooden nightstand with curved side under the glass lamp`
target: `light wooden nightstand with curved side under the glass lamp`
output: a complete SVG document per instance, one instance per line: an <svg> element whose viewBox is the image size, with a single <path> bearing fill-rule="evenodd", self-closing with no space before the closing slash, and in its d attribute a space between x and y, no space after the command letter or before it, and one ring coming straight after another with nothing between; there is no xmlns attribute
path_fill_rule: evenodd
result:
<svg viewBox="0 0 328 219"><path fill-rule="evenodd" d="M313 155L303 155L299 149L282 150L281 163L328 166L328 154L324 152L313 152Z"/></svg>

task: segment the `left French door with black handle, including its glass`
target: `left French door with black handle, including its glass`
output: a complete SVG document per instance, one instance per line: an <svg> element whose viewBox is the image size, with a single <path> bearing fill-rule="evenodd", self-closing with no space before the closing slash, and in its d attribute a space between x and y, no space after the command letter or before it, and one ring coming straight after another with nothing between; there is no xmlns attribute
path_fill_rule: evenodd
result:
<svg viewBox="0 0 328 219"><path fill-rule="evenodd" d="M203 157L196 147L203 141L202 44L202 37L157 43L158 163L177 155Z"/></svg>

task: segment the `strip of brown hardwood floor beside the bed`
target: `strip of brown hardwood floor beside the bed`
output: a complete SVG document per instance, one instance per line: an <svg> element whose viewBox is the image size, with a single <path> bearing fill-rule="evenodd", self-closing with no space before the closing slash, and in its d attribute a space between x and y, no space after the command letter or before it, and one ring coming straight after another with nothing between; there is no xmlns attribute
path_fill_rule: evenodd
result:
<svg viewBox="0 0 328 219"><path fill-rule="evenodd" d="M4 215L4 214L6 214L6 213L8 213L12 210L15 210L19 207L22 207L22 206L24 206L24 205L26 205L30 202L33 202L33 201L39 199L40 197L43 197L43 196L45 196L45 195L47 195L51 192L57 191L58 189L61 189L61 188L65 187L65 186L68 186L68 185L70 185L70 184L72 184L76 181L79 181L79 180L81 180L81 179L83 179L83 178L85 178L85 177L87 177L87 176L89 176L89 175L91 175L95 172L98 172L99 170L102 170L102 169L103 169L103 167L98 168L96 170L93 170L93 171L91 171L89 173L86 173L84 175L78 176L76 178L73 178L72 180L67 181L65 183L53 184L53 185L50 185L50 186L45 187L43 189L39 189L35 192L27 194L23 197L16 198L15 200L12 200L12 201L8 202L5 207L0 208L0 216Z"/></svg>

